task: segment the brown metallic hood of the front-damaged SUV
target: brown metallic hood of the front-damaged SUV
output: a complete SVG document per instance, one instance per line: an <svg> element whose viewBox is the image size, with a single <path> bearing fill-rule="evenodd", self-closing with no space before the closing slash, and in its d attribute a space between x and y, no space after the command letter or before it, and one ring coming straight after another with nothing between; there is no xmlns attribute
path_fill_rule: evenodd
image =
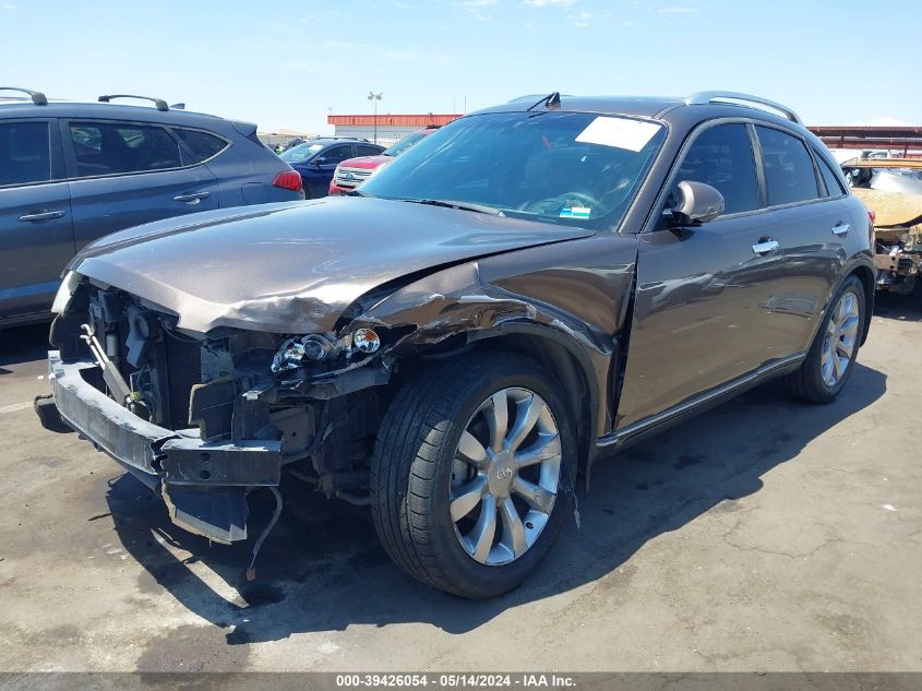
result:
<svg viewBox="0 0 922 691"><path fill-rule="evenodd" d="M414 274L591 230L362 198L160 221L87 246L70 269L179 317L179 326L332 331L369 290Z"/></svg>

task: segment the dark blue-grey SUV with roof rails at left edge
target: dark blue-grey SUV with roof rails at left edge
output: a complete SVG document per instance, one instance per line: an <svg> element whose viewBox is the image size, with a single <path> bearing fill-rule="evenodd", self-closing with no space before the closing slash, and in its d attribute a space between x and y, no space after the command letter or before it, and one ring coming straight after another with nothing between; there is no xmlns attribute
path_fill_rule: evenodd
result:
<svg viewBox="0 0 922 691"><path fill-rule="evenodd" d="M153 108L0 99L0 327L50 319L64 265L98 237L199 211L303 199L256 126ZM136 97L133 97L136 98Z"/></svg>

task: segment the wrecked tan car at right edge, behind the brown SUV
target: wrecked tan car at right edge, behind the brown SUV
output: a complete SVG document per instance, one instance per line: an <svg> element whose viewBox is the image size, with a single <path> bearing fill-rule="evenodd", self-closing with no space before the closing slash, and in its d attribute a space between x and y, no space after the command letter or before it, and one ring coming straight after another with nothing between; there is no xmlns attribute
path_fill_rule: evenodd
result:
<svg viewBox="0 0 922 691"><path fill-rule="evenodd" d="M852 159L842 171L873 211L877 287L912 293L922 264L922 158Z"/></svg>

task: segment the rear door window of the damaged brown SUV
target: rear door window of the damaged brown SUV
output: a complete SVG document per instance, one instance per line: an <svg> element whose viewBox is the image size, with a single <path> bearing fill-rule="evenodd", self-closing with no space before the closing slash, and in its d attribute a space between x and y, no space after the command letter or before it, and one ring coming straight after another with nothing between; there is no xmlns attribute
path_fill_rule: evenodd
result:
<svg viewBox="0 0 922 691"><path fill-rule="evenodd" d="M793 204L819 196L813 159L795 136L757 126L768 205Z"/></svg>

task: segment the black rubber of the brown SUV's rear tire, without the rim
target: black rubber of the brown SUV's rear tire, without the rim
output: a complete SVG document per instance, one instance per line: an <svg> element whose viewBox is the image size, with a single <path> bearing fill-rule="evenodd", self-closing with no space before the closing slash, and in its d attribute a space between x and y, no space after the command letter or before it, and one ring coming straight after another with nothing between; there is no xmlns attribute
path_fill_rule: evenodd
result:
<svg viewBox="0 0 922 691"><path fill-rule="evenodd" d="M854 295L858 303L858 336L855 337L854 347L852 348L851 357L843 374L833 385L828 385L823 378L824 341L829 322L847 294ZM813 344L806 354L806 359L795 372L792 372L786 378L788 391L791 395L801 401L819 404L830 403L836 398L854 369L854 360L858 357L858 350L861 345L861 334L864 333L864 324L867 319L865 306L864 285L858 276L849 276L829 302L829 309L826 310L826 315L819 324L819 330L816 332Z"/></svg>

